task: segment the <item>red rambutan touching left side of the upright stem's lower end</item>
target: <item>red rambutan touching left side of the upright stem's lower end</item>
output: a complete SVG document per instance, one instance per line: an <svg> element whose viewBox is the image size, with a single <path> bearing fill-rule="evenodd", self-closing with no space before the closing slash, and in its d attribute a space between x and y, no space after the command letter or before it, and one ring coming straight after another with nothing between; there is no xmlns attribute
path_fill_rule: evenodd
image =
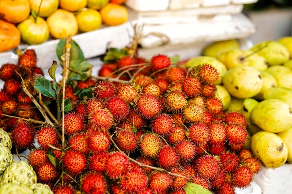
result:
<svg viewBox="0 0 292 194"><path fill-rule="evenodd" d="M49 149L49 145L55 146L58 143L58 133L52 127L43 127L37 132L37 143L43 149Z"/></svg>

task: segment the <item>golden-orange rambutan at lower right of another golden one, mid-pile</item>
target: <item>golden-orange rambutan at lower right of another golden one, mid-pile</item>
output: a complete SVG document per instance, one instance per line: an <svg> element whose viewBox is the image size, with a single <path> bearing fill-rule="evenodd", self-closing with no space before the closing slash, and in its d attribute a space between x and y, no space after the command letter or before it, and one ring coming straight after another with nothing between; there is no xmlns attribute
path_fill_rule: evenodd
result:
<svg viewBox="0 0 292 194"><path fill-rule="evenodd" d="M183 109L183 116L188 122L199 122L205 116L205 110L195 104L189 104Z"/></svg>

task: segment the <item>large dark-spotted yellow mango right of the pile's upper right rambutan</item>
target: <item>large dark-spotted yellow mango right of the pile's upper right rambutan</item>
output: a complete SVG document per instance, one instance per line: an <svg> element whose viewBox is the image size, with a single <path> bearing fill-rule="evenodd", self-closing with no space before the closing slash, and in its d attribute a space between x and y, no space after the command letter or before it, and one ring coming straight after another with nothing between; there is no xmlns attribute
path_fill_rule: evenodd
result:
<svg viewBox="0 0 292 194"><path fill-rule="evenodd" d="M222 81L231 96L242 99L256 96L264 83L261 73L250 66L229 69Z"/></svg>

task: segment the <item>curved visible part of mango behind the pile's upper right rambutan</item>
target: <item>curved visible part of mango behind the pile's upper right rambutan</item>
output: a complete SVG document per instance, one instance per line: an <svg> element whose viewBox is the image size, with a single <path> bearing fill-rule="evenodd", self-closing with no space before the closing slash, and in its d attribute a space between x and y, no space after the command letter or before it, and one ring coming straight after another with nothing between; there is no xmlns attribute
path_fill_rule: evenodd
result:
<svg viewBox="0 0 292 194"><path fill-rule="evenodd" d="M219 72L219 80L218 84L222 83L222 77L225 75L227 72L227 68L224 64L219 62L216 58L214 57L207 57L207 56L200 56L200 57L195 57L190 60L185 64L186 67L191 67L191 66L198 66L203 63L210 64L214 66L218 72Z"/></svg>

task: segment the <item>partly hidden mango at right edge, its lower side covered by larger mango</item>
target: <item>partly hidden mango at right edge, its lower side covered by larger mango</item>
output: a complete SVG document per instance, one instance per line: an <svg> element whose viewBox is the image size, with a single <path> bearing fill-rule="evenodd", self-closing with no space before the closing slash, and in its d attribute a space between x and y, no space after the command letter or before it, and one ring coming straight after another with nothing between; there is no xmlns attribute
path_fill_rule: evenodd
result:
<svg viewBox="0 0 292 194"><path fill-rule="evenodd" d="M292 107L292 89L283 87L270 88L264 92L264 99L279 99Z"/></svg>

